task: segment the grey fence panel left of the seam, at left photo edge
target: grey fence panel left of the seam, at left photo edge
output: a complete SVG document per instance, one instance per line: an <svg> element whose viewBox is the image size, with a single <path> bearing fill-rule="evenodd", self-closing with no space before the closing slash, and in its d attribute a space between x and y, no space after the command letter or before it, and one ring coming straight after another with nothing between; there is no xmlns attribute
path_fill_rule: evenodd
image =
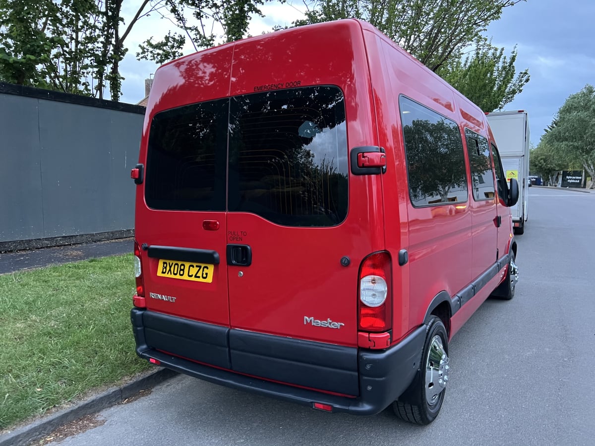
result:
<svg viewBox="0 0 595 446"><path fill-rule="evenodd" d="M37 99L0 95L0 241L40 237Z"/></svg>

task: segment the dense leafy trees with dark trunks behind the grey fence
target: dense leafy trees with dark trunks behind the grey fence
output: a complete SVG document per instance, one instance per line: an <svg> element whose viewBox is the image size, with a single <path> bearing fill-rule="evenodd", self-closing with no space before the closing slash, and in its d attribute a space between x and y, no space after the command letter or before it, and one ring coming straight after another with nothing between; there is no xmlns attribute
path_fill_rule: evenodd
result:
<svg viewBox="0 0 595 446"><path fill-rule="evenodd" d="M0 80L99 98L109 84L118 100L124 40L149 4L120 33L122 0L0 0Z"/></svg>

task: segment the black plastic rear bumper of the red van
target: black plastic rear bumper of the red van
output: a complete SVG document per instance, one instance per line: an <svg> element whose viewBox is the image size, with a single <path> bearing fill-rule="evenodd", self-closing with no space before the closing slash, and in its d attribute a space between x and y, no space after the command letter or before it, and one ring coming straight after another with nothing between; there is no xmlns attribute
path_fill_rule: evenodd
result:
<svg viewBox="0 0 595 446"><path fill-rule="evenodd" d="M364 415L381 412L409 387L425 339L425 326L420 326L396 346L367 350L212 326L137 308L131 310L131 321L136 353L168 369L279 400L310 407L322 403L333 412Z"/></svg>

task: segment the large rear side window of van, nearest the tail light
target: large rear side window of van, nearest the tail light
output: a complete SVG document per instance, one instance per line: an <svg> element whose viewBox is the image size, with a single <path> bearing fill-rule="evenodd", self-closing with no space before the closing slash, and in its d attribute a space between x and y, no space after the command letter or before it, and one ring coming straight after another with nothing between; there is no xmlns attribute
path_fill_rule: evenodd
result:
<svg viewBox="0 0 595 446"><path fill-rule="evenodd" d="M458 125L405 96L399 97L399 108L412 204L466 202L465 156Z"/></svg>

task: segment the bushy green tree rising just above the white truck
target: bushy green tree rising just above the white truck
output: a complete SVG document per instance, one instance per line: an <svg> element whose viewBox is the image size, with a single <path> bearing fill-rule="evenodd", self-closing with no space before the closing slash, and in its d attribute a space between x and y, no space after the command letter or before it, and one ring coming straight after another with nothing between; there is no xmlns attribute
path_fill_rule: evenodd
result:
<svg viewBox="0 0 595 446"><path fill-rule="evenodd" d="M515 77L516 47L506 56L504 48L496 48L484 37L475 45L472 56L451 58L438 74L483 111L500 110L522 92L530 79L529 71Z"/></svg>

